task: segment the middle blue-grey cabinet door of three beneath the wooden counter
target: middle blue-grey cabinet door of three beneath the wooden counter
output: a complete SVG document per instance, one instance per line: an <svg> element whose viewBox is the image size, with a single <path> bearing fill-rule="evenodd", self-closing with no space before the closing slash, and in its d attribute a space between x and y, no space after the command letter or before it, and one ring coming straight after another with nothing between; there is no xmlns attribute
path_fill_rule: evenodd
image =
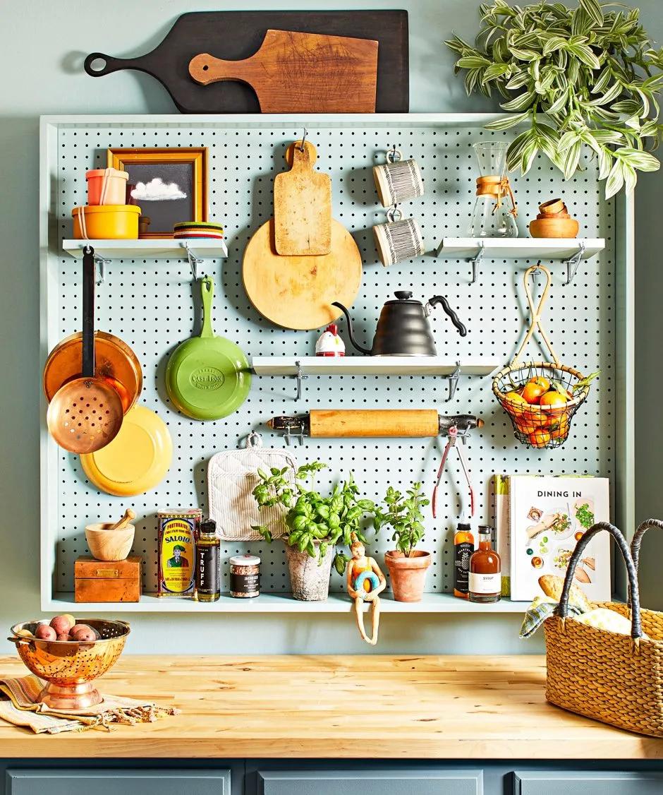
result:
<svg viewBox="0 0 663 795"><path fill-rule="evenodd" d="M258 772L258 795L483 795L480 770Z"/></svg>

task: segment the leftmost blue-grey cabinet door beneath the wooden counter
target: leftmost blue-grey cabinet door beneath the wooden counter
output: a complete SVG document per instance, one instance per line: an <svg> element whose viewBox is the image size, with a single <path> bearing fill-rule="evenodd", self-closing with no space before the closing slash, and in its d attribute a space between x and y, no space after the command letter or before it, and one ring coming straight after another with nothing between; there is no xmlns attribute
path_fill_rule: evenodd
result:
<svg viewBox="0 0 663 795"><path fill-rule="evenodd" d="M7 795L230 795L229 770L7 770Z"/></svg>

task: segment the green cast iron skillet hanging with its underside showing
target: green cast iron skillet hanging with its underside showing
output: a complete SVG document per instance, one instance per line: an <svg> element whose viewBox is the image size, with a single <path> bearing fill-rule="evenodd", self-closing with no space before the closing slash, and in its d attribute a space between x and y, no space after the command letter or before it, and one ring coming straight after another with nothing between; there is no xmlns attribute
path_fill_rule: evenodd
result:
<svg viewBox="0 0 663 795"><path fill-rule="evenodd" d="M194 420L220 420L246 400L251 388L249 361L239 346L212 331L214 281L204 277L202 331L173 351L166 389L175 408Z"/></svg>

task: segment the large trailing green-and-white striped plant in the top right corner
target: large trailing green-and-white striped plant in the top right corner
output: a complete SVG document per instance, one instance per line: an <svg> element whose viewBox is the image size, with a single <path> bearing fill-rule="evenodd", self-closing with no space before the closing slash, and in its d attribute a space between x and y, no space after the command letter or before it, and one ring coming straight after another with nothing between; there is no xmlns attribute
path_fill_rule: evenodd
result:
<svg viewBox="0 0 663 795"><path fill-rule="evenodd" d="M542 152L569 179L587 145L609 198L623 185L632 189L638 171L659 168L650 150L663 129L656 99L663 48L651 46L638 9L598 0L579 0L573 9L493 0L480 14L476 46L457 36L446 44L460 56L456 72L466 70L468 94L496 89L500 107L515 111L488 129L528 126L509 147L508 169L525 174Z"/></svg>

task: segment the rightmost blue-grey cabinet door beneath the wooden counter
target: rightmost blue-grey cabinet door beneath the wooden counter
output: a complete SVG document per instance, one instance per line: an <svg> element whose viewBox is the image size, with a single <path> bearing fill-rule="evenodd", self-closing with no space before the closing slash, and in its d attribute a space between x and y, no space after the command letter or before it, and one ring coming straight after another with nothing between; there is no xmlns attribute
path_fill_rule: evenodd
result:
<svg viewBox="0 0 663 795"><path fill-rule="evenodd" d="M532 770L514 774L514 795L661 795L661 773Z"/></svg>

